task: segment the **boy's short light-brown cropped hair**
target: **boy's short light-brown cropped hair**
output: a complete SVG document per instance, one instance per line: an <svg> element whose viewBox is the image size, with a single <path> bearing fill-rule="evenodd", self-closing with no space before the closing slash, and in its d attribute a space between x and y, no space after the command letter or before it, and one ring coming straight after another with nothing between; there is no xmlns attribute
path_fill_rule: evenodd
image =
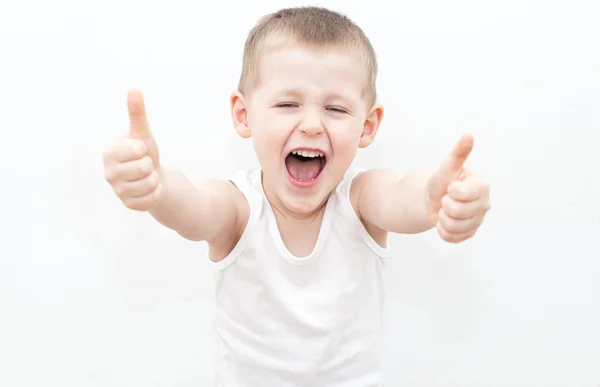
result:
<svg viewBox="0 0 600 387"><path fill-rule="evenodd" d="M238 90L247 93L257 82L257 64L264 43L283 37L311 48L342 47L362 54L366 85L364 93L370 103L377 99L377 58L371 42L358 25L347 16L322 7L281 9L263 16L248 34L244 46L242 73Z"/></svg>

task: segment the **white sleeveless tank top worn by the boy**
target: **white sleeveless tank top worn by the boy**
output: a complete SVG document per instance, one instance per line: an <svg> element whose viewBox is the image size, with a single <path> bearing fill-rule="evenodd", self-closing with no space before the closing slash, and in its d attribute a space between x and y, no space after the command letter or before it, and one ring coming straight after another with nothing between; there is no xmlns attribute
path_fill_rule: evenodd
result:
<svg viewBox="0 0 600 387"><path fill-rule="evenodd" d="M360 172L359 172L360 173ZM230 180L250 216L216 272L216 386L379 387L387 253L350 203L348 172L331 194L312 253L281 238L261 171Z"/></svg>

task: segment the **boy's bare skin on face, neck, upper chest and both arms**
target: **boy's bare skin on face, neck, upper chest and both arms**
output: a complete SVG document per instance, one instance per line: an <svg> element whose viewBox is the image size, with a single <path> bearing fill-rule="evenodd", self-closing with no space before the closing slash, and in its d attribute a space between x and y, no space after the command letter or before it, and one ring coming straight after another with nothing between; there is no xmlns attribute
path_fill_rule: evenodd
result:
<svg viewBox="0 0 600 387"><path fill-rule="evenodd" d="M383 107L370 105L363 94L366 72L360 63L347 49L278 46L264 51L251 91L231 95L233 126L252 140L282 239L299 257L314 248L329 194L357 150L373 142L383 118ZM129 132L104 154L106 180L128 208L148 211L187 239L207 241L212 260L224 258L248 220L245 198L228 181L194 185L162 166L139 90L130 91L128 109ZM326 154L314 187L298 188L288 179L285 157L299 147ZM373 238L384 246L389 232L432 227L453 243L475 235L490 198L487 182L464 168L472 147L472 136L463 136L433 172L398 178L370 170L357 177L350 199Z"/></svg>

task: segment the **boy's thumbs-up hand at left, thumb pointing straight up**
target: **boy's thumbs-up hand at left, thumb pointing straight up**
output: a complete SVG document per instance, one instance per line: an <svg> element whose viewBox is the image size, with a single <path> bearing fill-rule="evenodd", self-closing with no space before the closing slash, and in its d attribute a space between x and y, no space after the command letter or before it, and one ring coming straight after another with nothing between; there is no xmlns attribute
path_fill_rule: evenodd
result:
<svg viewBox="0 0 600 387"><path fill-rule="evenodd" d="M158 146L139 90L129 92L127 107L129 132L104 152L104 174L125 206L147 211L158 204L162 193Z"/></svg>

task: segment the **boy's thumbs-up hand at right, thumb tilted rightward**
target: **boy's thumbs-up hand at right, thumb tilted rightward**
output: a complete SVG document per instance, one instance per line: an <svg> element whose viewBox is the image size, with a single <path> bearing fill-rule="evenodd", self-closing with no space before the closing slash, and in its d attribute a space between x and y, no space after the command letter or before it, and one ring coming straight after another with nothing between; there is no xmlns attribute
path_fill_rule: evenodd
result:
<svg viewBox="0 0 600 387"><path fill-rule="evenodd" d="M473 137L463 136L427 185L429 219L447 242L471 238L490 209L489 185L464 168Z"/></svg>

